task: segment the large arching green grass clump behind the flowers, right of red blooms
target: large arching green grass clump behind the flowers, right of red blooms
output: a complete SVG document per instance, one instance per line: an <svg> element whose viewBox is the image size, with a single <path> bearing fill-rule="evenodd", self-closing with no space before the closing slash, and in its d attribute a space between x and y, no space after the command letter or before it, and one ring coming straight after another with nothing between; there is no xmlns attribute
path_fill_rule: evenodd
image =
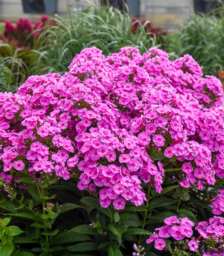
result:
<svg viewBox="0 0 224 256"><path fill-rule="evenodd" d="M110 55L124 46L135 46L144 52L157 41L140 22L138 30L133 32L129 14L112 7L92 4L84 12L70 14L68 18L55 15L54 21L55 25L35 42L32 74L65 72L72 58L85 47L96 46L104 55Z"/></svg>

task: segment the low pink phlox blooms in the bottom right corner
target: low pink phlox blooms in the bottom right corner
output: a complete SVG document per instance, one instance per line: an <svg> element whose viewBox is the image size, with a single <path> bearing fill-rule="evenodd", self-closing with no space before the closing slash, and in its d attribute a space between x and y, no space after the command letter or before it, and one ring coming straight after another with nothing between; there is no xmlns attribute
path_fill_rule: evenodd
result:
<svg viewBox="0 0 224 256"><path fill-rule="evenodd" d="M168 238L172 240L184 240L182 249L192 252L200 251L203 256L224 255L224 218L213 217L208 222L202 221L194 228L194 222L188 218L168 217L164 220L165 226L155 229L147 244L154 241L157 250L163 250L168 244ZM194 228L194 230L193 230ZM197 232L195 232L197 231ZM195 237L196 234L198 237Z"/></svg>

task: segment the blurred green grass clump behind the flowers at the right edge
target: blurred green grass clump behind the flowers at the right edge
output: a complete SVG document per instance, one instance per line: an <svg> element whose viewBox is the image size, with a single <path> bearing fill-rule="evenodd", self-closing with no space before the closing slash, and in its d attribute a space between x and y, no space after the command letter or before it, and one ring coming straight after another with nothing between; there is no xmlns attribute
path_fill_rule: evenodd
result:
<svg viewBox="0 0 224 256"><path fill-rule="evenodd" d="M216 75L219 66L224 67L224 7L219 16L194 15L178 32L164 37L163 45L175 57L190 54L202 66L206 75ZM217 12L216 12L217 13Z"/></svg>

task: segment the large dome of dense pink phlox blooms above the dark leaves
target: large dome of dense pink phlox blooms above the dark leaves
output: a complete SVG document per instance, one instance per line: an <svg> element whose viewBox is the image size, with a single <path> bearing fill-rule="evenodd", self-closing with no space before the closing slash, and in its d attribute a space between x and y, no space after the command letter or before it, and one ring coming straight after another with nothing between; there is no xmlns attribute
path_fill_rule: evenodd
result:
<svg viewBox="0 0 224 256"><path fill-rule="evenodd" d="M76 177L80 190L99 191L102 207L121 210L144 203L145 184L161 193L170 163L182 168L183 188L224 177L221 82L201 78L188 55L168 57L125 47L106 58L86 48L64 75L34 75L17 94L1 93L2 179Z"/></svg>

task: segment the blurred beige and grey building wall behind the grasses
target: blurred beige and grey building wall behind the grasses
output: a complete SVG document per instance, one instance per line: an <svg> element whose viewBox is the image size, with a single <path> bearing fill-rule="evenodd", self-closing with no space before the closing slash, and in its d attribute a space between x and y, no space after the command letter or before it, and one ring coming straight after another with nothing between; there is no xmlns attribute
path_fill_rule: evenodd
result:
<svg viewBox="0 0 224 256"><path fill-rule="evenodd" d="M154 27L174 28L183 23L194 11L208 12L213 1L208 0L125 0L133 17L150 20ZM110 4L123 8L123 0L89 0L96 4ZM72 12L85 9L85 0L0 0L0 21L9 19L17 21L20 17L28 17L31 22L43 14L53 13L65 16L72 5Z"/></svg>

